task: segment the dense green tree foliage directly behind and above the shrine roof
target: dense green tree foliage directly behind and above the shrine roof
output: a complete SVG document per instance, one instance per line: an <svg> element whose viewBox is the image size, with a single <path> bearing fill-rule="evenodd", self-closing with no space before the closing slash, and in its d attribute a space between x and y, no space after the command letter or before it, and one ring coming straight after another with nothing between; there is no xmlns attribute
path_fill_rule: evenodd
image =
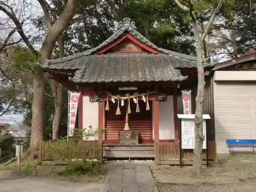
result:
<svg viewBox="0 0 256 192"><path fill-rule="evenodd" d="M58 10L59 4L56 2L53 6ZM157 46L187 54L195 53L188 17L177 9L174 2L145 3L142 0L130 0L122 4L121 1L115 1L116 16L107 2L101 0L81 2L72 23L62 35L65 40L66 55L98 46L112 35L118 21L123 17L130 17L135 22L137 30ZM44 31L44 34L46 33L44 18L34 19L34 25L40 31ZM55 46L53 57L57 55L58 45Z"/></svg>

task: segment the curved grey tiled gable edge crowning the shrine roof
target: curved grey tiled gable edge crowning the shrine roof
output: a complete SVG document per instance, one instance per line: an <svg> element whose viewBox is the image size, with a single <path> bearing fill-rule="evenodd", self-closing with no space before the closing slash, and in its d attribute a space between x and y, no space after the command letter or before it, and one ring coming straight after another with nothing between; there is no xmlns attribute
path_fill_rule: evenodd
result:
<svg viewBox="0 0 256 192"><path fill-rule="evenodd" d="M118 37L120 37L121 35L123 35L124 33L130 33L133 36L135 36L138 40L140 40L141 42L143 42L144 44L160 51L163 54L169 55L169 56L173 56L173 57L179 57L180 59L184 59L186 61L196 61L196 57L194 56L190 56L190 55L185 55L182 53L177 53L174 51L169 51L166 49L162 49L157 47L156 45L154 45L150 40L148 40L146 37L144 37L143 35L141 35L137 30L136 27L134 25L134 22L131 21L130 18L123 18L123 22L120 22L118 25L117 30L113 33L113 35L111 35L108 39L106 39L105 41L102 42L102 44L100 44L99 46L81 52L81 53L77 53L71 56L67 56L67 57L63 57L63 58L58 58L58 59L51 59L46 61L46 63L44 65L41 65L42 68L48 68L48 69L79 69L77 66L74 66L72 62L69 62L68 66L67 64L61 68L60 65L57 65L57 63L64 63L64 62L68 62L71 60L75 60L75 59L79 59L79 57L82 56L88 56L91 54L94 54L96 51L100 50L101 48L111 44L111 42L115 41ZM190 62L186 62L186 67L190 68ZM185 67L185 66L184 66Z"/></svg>

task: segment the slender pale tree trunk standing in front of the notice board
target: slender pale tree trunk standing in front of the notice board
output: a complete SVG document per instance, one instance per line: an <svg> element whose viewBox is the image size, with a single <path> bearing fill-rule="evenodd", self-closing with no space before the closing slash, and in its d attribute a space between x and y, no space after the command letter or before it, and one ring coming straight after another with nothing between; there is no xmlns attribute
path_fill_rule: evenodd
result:
<svg viewBox="0 0 256 192"><path fill-rule="evenodd" d="M196 97L196 113L195 113L195 149L194 149L194 167L193 176L198 176L202 172L202 148L203 148L203 109L204 109L204 68L203 68L203 47L200 37L200 28L197 23L194 23L194 34L196 39L197 52L197 71L198 71L198 90Z"/></svg>

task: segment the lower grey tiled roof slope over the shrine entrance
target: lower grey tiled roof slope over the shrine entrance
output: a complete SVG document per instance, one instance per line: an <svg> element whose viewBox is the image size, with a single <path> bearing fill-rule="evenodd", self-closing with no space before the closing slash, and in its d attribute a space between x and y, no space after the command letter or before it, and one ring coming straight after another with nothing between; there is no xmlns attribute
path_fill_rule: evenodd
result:
<svg viewBox="0 0 256 192"><path fill-rule="evenodd" d="M79 70L69 78L74 82L182 81L187 78L175 68L188 61L166 54L112 53L82 56L76 61L73 64ZM62 65L69 66L69 63Z"/></svg>

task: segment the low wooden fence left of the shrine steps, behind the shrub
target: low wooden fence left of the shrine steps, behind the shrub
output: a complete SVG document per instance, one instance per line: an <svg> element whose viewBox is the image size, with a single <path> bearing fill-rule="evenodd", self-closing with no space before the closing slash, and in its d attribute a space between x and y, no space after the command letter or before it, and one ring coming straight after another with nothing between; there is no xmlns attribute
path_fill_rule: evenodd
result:
<svg viewBox="0 0 256 192"><path fill-rule="evenodd" d="M53 147L54 145L54 147ZM38 144L39 161L97 159L103 161L102 143L98 141L51 142L42 141ZM57 158L57 159L56 159Z"/></svg>

